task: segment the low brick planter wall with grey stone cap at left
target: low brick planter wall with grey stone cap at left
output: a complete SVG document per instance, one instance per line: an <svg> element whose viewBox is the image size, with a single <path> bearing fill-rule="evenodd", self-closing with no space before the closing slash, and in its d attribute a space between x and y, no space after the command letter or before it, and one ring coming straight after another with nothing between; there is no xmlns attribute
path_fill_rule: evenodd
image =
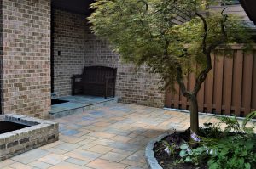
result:
<svg viewBox="0 0 256 169"><path fill-rule="evenodd" d="M59 124L56 122L13 114L1 116L0 121L31 126L0 134L0 161L59 139Z"/></svg>

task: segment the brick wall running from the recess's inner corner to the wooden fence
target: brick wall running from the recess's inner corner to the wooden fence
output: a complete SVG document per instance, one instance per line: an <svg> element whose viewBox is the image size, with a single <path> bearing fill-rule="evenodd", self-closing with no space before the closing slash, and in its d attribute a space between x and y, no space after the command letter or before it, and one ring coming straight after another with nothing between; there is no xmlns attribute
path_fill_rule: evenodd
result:
<svg viewBox="0 0 256 169"><path fill-rule="evenodd" d="M128 104L143 104L163 107L164 93L159 90L159 76L148 73L147 66L135 68L124 63L118 54L113 54L108 42L94 36L86 27L85 65L106 65L118 68L116 95Z"/></svg>

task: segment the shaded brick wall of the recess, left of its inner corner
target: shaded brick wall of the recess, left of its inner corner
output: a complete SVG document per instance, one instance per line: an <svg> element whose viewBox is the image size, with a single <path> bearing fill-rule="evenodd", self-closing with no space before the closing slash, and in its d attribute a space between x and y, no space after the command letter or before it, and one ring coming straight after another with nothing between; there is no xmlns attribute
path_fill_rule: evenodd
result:
<svg viewBox="0 0 256 169"><path fill-rule="evenodd" d="M57 96L71 94L71 77L83 69L85 19L81 14L54 9L54 92Z"/></svg>

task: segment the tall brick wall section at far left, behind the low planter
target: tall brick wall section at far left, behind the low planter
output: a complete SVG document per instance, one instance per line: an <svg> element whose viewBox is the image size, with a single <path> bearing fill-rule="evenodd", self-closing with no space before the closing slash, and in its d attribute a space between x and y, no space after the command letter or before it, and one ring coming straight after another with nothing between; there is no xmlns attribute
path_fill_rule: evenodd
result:
<svg viewBox="0 0 256 169"><path fill-rule="evenodd" d="M2 0L4 113L46 118L50 108L50 0Z"/></svg>

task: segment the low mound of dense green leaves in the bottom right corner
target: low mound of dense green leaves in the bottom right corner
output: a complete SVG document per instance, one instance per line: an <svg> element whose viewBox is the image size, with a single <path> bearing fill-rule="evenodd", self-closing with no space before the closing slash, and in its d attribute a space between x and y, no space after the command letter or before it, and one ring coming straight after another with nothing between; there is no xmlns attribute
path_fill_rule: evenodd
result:
<svg viewBox="0 0 256 169"><path fill-rule="evenodd" d="M211 148L214 153L207 162L209 169L250 169L256 167L255 137L228 137Z"/></svg>

